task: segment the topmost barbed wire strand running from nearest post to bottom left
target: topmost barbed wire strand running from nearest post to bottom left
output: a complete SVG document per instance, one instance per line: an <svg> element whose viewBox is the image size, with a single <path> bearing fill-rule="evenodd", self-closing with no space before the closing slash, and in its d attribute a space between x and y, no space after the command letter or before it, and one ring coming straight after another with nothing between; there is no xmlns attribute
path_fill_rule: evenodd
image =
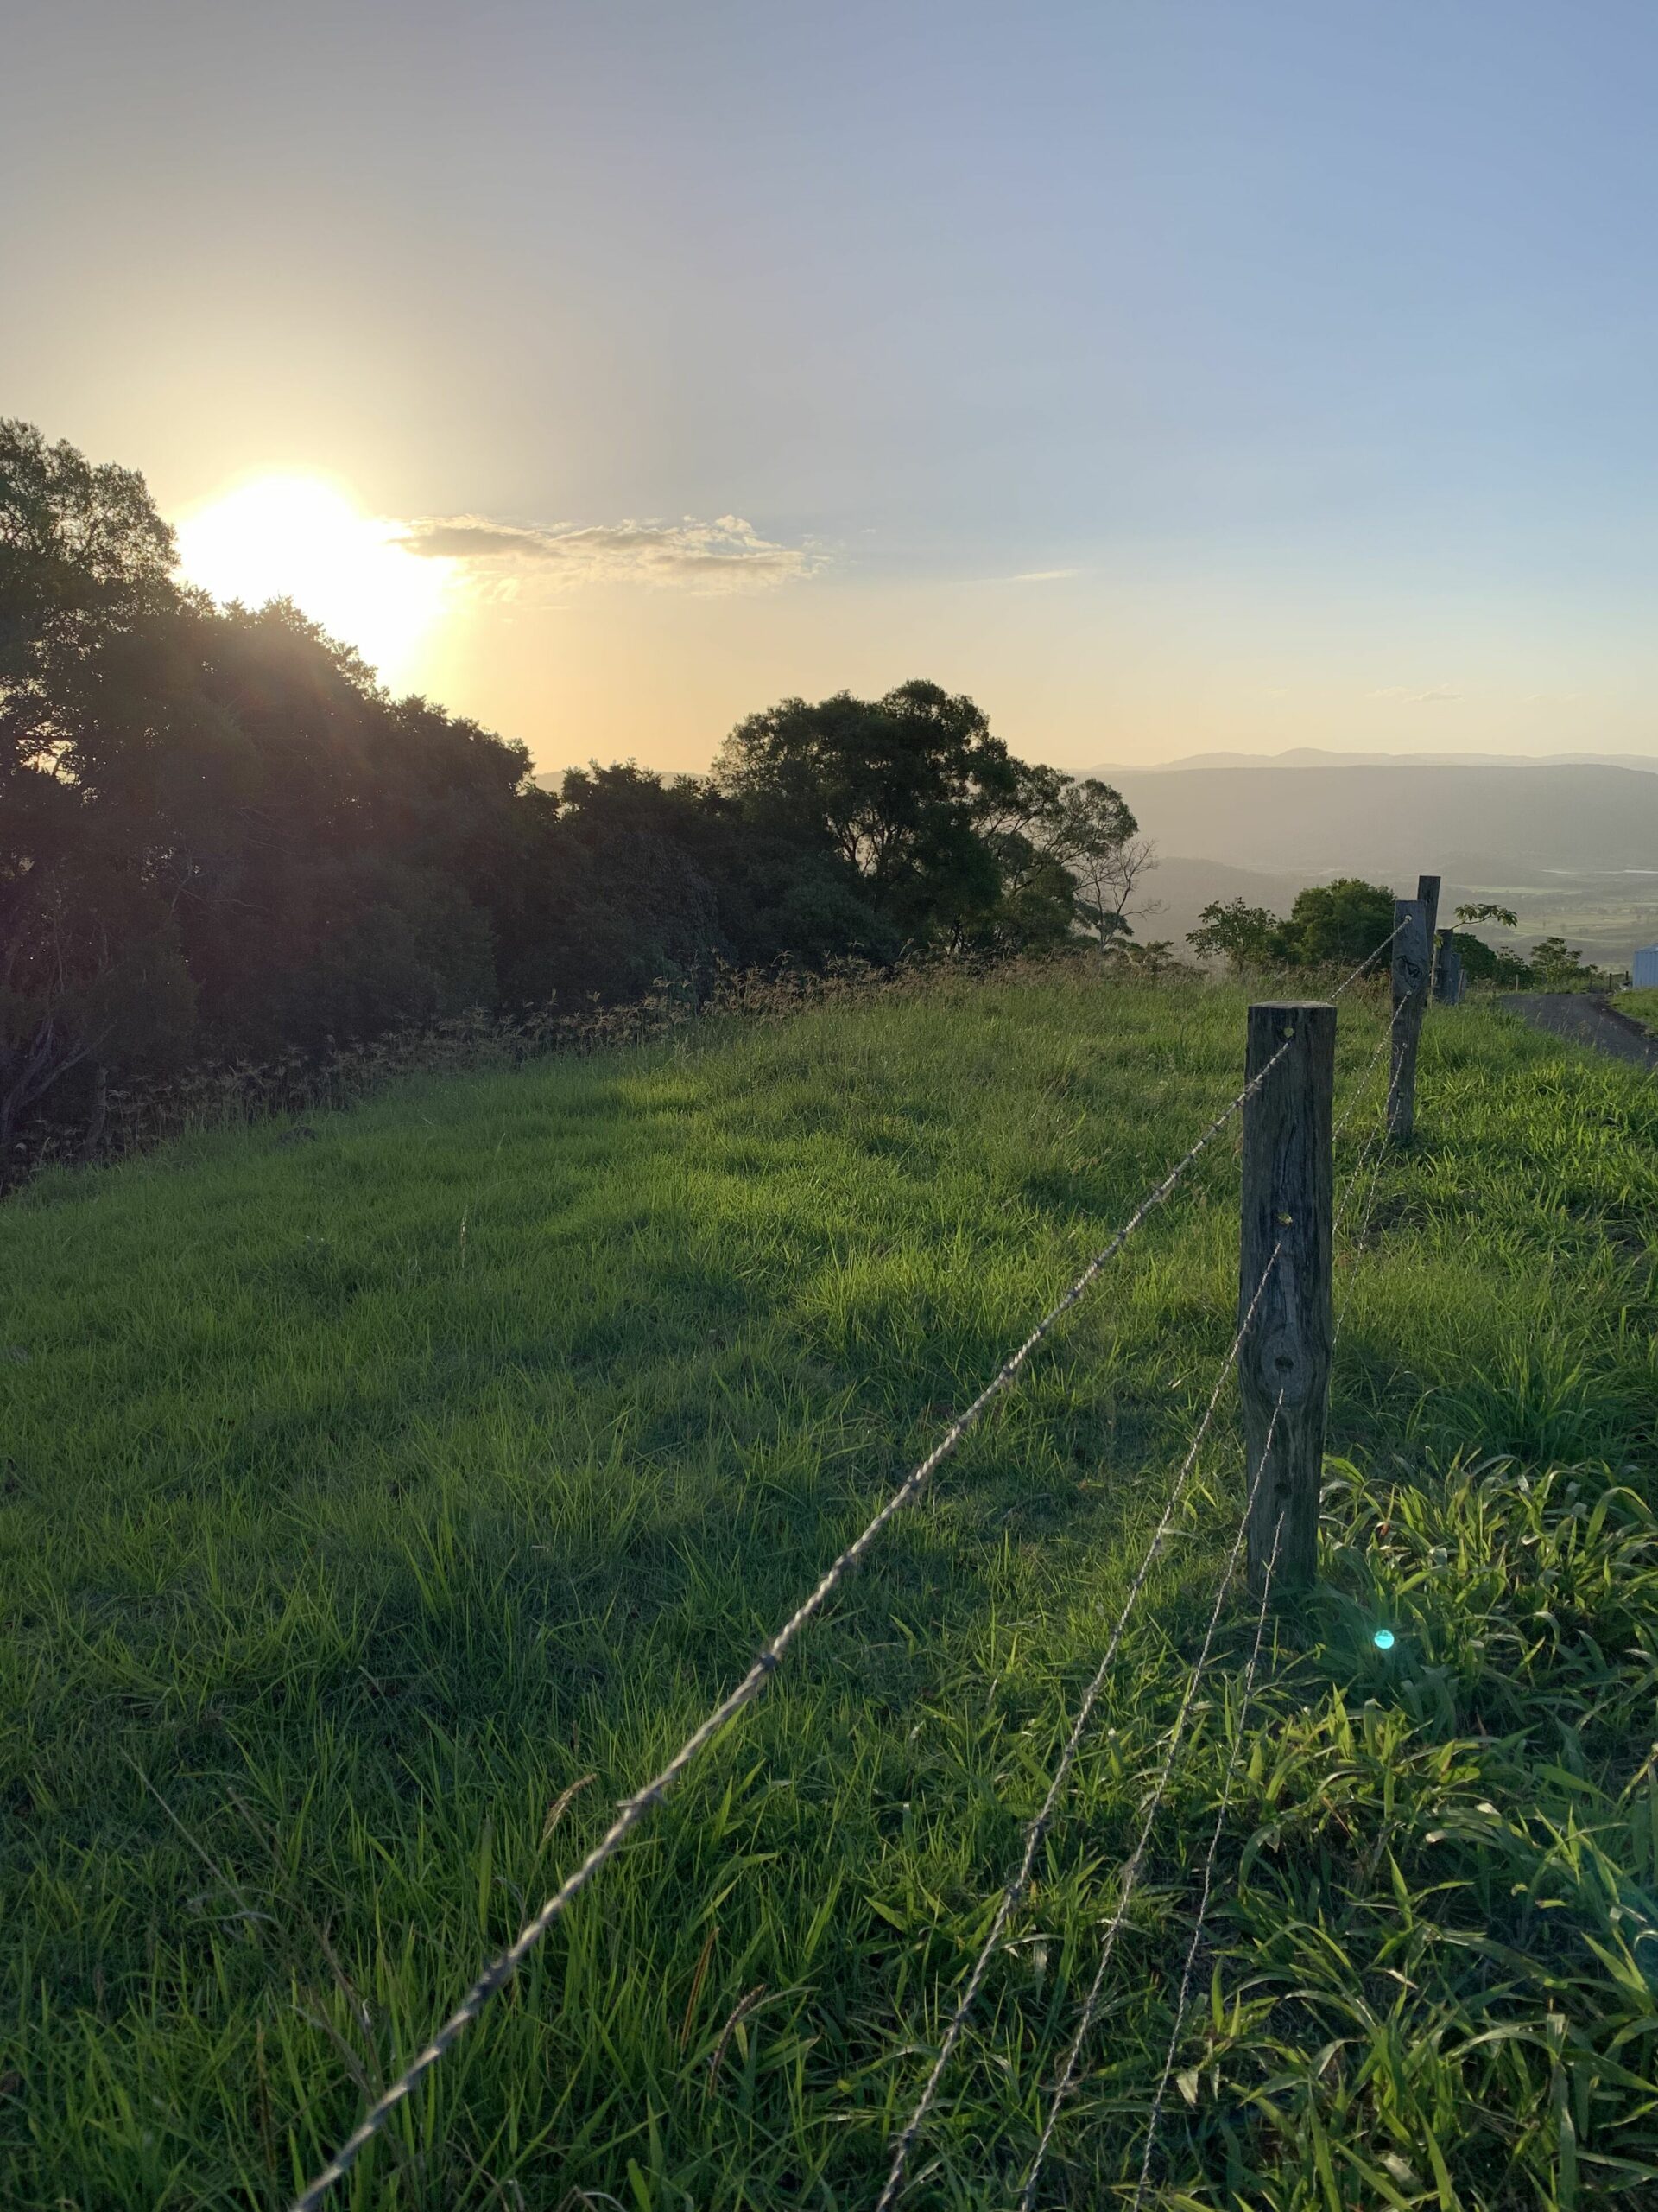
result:
<svg viewBox="0 0 1658 2212"><path fill-rule="evenodd" d="M336 2181L343 2181L356 2166L358 2157L369 2148L369 2143L380 2135L385 2124L391 2119L396 2108L411 2095L411 2090L424 2079L427 2073L442 2059L442 2055L464 2035L464 2031L478 2020L489 2000L504 1989L531 1951L539 1944L555 1920L568 1911L575 1898L588 1887L588 1882L608 1865L628 1836L639 1827L639 1823L654 1812L657 1805L668 1796L674 1783L685 1774L685 1770L696 1761L696 1756L707 1750L707 1745L725 1730L725 1725L767 1686L772 1674L778 1670L783 1655L789 1644L800 1635L800 1630L827 1606L840 1584L851 1575L873 1546L875 1537L882 1533L895 1513L926 1489L928 1480L944 1464L944 1460L955 1451L962 1438L982 1420L986 1409L1001 1396L1004 1389L1019 1376L1026 1367L1030 1354L1052 1334L1059 1321L1070 1312L1072 1305L1083 1296L1083 1292L1094 1283L1099 1272L1112 1261L1130 1237L1141 1228L1141 1223L1152 1214L1163 1201L1174 1192L1187 1170L1198 1161L1198 1157L1214 1144L1220 1130L1231 1121L1236 1113L1260 1091L1267 1077L1273 1073L1278 1062L1289 1051L1293 1037L1287 1037L1271 1060L1249 1077L1242 1091L1236 1093L1227 1106L1209 1121L1203 1135L1180 1155L1180 1159L1169 1168L1161 1183L1156 1183L1134 1208L1127 1221L1116 1230L1110 1243L1083 1267L1070 1290L1052 1305L1037 1327L1026 1336L1017 1352L1008 1354L1001 1367L990 1376L979 1396L968 1405L964 1413L951 1422L933 1451L898 1484L898 1489L886 1498L873 1520L853 1537L851 1544L825 1568L816 1588L802 1599L800 1606L789 1615L789 1619L778 1628L769 1644L763 1646L754 1666L747 1674L730 1690L714 1710L685 1736L674 1756L639 1790L634 1796L623 1798L617 1809L617 1818L586 1854L586 1858L564 1878L564 1882L553 1891L553 1896L542 1905L542 1909L524 1922L513 1942L497 1953L489 1966L478 1975L466 1995L460 2000L455 2011L444 2020L431 2042L405 2066L398 2079L382 2090L380 2097L363 2115L363 2121L351 2130L351 2135L340 2143L327 2166L316 2174L316 2179L294 2199L292 2212L316 2212L327 2192ZM1205 1646L1207 1650L1207 1646Z"/></svg>

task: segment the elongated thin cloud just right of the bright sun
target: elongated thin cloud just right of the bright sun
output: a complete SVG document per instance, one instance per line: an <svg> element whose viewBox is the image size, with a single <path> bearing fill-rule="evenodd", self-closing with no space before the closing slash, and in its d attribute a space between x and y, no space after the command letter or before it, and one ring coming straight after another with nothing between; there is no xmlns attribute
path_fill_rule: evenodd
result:
<svg viewBox="0 0 1658 2212"><path fill-rule="evenodd" d="M774 544L743 522L495 522L489 515L422 515L402 535L409 553L464 562L484 577L550 584L676 584L754 591L822 566L811 546Z"/></svg>

